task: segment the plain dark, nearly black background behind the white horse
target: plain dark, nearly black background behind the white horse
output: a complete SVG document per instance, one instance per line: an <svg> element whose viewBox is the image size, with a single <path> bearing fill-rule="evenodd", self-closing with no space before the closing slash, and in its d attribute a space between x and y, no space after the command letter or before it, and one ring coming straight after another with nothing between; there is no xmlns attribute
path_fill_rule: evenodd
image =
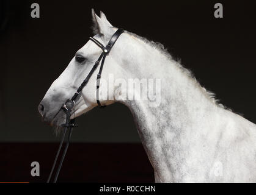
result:
<svg viewBox="0 0 256 195"><path fill-rule="evenodd" d="M40 18L31 18L33 2ZM214 18L217 2L224 18ZM113 26L163 43L222 104L256 122L254 1L1 0L0 6L0 181L46 179L59 137L41 122L37 105L92 35L91 8ZM77 122L60 181L153 181L128 108L95 108ZM30 176L32 161L42 166L39 178Z"/></svg>

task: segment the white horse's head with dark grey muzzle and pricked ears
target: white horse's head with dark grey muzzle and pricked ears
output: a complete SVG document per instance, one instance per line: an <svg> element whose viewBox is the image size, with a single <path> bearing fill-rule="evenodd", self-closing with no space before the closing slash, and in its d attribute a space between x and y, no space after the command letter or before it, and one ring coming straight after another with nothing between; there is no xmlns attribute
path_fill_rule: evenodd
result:
<svg viewBox="0 0 256 195"><path fill-rule="evenodd" d="M92 21L93 21L93 38L104 46L111 39L117 28L113 27L109 23L108 19L103 12L100 13L100 17L95 14L92 9ZM111 55L106 57L104 62L104 69L101 74L101 79L107 80L108 74L111 73L114 76L122 74L122 55L120 55L120 48L122 47L122 38L115 43L114 48L111 49ZM93 41L87 41L87 43L79 49L73 59L71 59L67 68L60 76L54 80L51 87L45 94L38 105L38 112L43 118L43 121L51 124L52 126L60 126L65 121L65 113L62 111L62 107L75 94L82 81L89 74L93 65L100 56L102 50ZM82 115L97 106L96 98L96 81L98 69L93 72L86 87L83 88L78 98L75 101L75 107L71 112L71 119ZM108 95L114 96L114 88L106 91ZM109 105L114 102L114 99L100 98L101 104Z"/></svg>

